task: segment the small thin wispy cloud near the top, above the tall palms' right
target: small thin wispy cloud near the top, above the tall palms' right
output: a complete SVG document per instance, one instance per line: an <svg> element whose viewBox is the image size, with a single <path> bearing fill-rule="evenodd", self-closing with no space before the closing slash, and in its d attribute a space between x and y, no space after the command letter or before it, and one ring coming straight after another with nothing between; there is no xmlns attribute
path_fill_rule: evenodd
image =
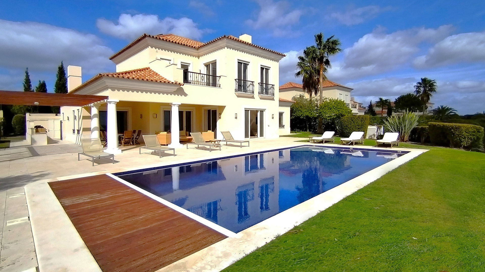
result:
<svg viewBox="0 0 485 272"><path fill-rule="evenodd" d="M345 12L333 12L327 16L329 20L336 20L346 26L361 24L367 20L375 18L378 14L390 10L390 7L365 6L361 8L349 9Z"/></svg>

